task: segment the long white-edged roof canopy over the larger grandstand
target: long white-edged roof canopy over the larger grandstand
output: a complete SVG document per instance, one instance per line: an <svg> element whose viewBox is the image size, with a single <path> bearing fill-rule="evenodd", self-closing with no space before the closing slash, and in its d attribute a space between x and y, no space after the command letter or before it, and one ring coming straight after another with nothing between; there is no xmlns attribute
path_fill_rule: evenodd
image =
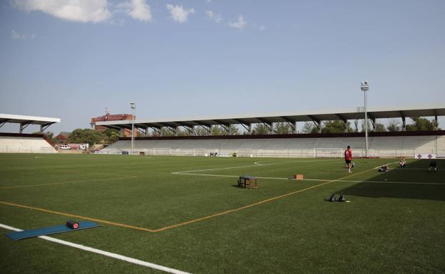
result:
<svg viewBox="0 0 445 274"><path fill-rule="evenodd" d="M427 106L393 107L379 108L369 107L367 110L369 119L375 122L376 119L401 118L405 124L405 117L437 117L445 116L445 103L431 104ZM325 120L347 120L363 119L364 107L356 109L342 109L329 111L309 111L309 112L277 112L259 115L225 115L220 117L192 117L184 119L161 119L161 120L134 120L135 127L139 129L153 128L160 129L168 127L211 127L212 125L243 125L250 129L251 124L262 123L268 125L271 130L274 122L287 122L295 130L295 122L313 121L319 125ZM131 120L96 122L96 125L109 127L116 130L131 129Z"/></svg>

